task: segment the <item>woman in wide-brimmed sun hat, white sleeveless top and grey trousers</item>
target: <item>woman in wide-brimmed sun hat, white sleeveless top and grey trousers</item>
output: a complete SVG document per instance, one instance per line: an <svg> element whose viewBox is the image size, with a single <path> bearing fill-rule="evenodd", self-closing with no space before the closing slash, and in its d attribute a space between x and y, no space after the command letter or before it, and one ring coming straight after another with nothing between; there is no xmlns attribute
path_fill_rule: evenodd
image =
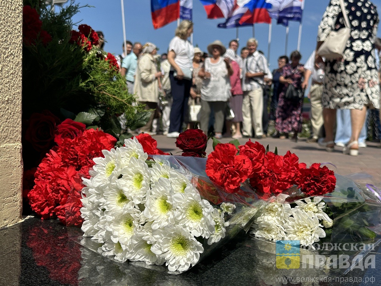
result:
<svg viewBox="0 0 381 286"><path fill-rule="evenodd" d="M206 58L204 66L199 72L203 77L201 88L200 125L202 131L207 134L209 129L210 111L213 109L215 116L215 138L222 137L226 103L231 96L230 76L233 74L229 58L221 56L226 52L221 41L214 41L208 45L211 58Z"/></svg>

